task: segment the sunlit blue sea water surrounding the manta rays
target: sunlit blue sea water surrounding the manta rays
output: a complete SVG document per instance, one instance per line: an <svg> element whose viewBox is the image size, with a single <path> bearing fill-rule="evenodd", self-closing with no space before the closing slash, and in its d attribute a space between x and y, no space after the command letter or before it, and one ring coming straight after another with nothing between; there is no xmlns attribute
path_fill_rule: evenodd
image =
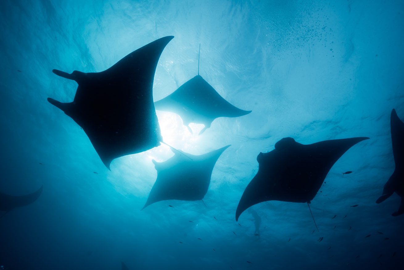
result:
<svg viewBox="0 0 404 270"><path fill-rule="evenodd" d="M17 196L44 185L36 202L0 219L0 264L401 269L404 215L391 216L400 197L375 201L394 170L391 110L404 119L403 29L400 0L0 1L0 191ZM202 77L252 113L216 119L198 136L203 125L191 124L192 135L179 116L158 111L165 142L178 149L200 155L231 147L213 170L207 207L172 200L140 211L156 181L151 159L167 160L170 149L120 157L109 171L80 127L46 98L71 102L77 88L52 69L99 72L169 35L155 101L197 74L201 44ZM235 221L257 155L288 136L303 144L370 137L335 163L312 200L320 232L312 234L302 203L257 204Z"/></svg>

